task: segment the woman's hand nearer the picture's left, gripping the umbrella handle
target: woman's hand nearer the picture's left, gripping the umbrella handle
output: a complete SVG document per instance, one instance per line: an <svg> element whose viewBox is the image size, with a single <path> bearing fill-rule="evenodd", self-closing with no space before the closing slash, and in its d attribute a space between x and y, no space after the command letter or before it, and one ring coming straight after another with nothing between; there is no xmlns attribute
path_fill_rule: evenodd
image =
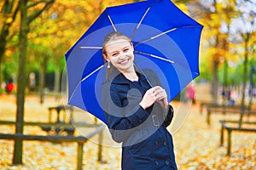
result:
<svg viewBox="0 0 256 170"><path fill-rule="evenodd" d="M144 110L154 104L156 100L154 91L155 91L154 88L149 88L148 91L144 94L143 100L139 104L143 107Z"/></svg>

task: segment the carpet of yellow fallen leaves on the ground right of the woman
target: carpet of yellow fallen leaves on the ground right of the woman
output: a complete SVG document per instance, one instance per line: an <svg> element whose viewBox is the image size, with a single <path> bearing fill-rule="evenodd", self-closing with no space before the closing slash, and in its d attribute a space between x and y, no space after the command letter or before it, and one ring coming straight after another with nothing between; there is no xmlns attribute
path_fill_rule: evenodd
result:
<svg viewBox="0 0 256 170"><path fill-rule="evenodd" d="M203 88L197 89L197 96ZM174 105L175 107L175 105ZM176 108L176 107L175 107ZM178 113L177 113L178 114ZM253 169L256 166L255 133L232 133L232 154L226 156L224 146L219 146L220 119L234 116L214 115L211 127L207 126L205 113L193 105L183 127L173 134L177 166L179 169ZM225 137L226 138L226 137Z"/></svg>

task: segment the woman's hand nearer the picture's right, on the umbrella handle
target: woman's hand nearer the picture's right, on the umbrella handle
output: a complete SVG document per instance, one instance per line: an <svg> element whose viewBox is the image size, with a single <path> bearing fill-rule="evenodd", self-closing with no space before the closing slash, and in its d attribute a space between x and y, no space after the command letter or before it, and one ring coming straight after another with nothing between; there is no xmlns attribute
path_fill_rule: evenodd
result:
<svg viewBox="0 0 256 170"><path fill-rule="evenodd" d="M154 87L154 94L156 101L162 106L168 108L167 94L166 90L160 86Z"/></svg>

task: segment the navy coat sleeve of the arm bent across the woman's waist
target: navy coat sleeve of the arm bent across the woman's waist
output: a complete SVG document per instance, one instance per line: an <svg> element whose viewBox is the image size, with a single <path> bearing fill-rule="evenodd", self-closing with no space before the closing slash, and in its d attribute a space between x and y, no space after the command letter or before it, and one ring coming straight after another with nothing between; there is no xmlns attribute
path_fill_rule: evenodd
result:
<svg viewBox="0 0 256 170"><path fill-rule="evenodd" d="M102 85L102 109L113 140L118 143L124 142L149 114L139 104L132 108L124 107L119 92L108 87Z"/></svg>

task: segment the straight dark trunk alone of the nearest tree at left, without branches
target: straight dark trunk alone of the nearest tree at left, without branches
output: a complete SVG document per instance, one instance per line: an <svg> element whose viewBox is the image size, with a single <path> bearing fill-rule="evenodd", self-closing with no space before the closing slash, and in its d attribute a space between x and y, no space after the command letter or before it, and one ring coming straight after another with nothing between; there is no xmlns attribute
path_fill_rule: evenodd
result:
<svg viewBox="0 0 256 170"><path fill-rule="evenodd" d="M16 96L16 126L15 133L23 133L24 122L24 101L26 88L26 52L27 52L27 33L29 31L27 20L27 0L20 0L20 56L19 56L19 72L17 82L17 96ZM21 139L15 139L15 150L13 163L22 164L22 150L23 142Z"/></svg>

